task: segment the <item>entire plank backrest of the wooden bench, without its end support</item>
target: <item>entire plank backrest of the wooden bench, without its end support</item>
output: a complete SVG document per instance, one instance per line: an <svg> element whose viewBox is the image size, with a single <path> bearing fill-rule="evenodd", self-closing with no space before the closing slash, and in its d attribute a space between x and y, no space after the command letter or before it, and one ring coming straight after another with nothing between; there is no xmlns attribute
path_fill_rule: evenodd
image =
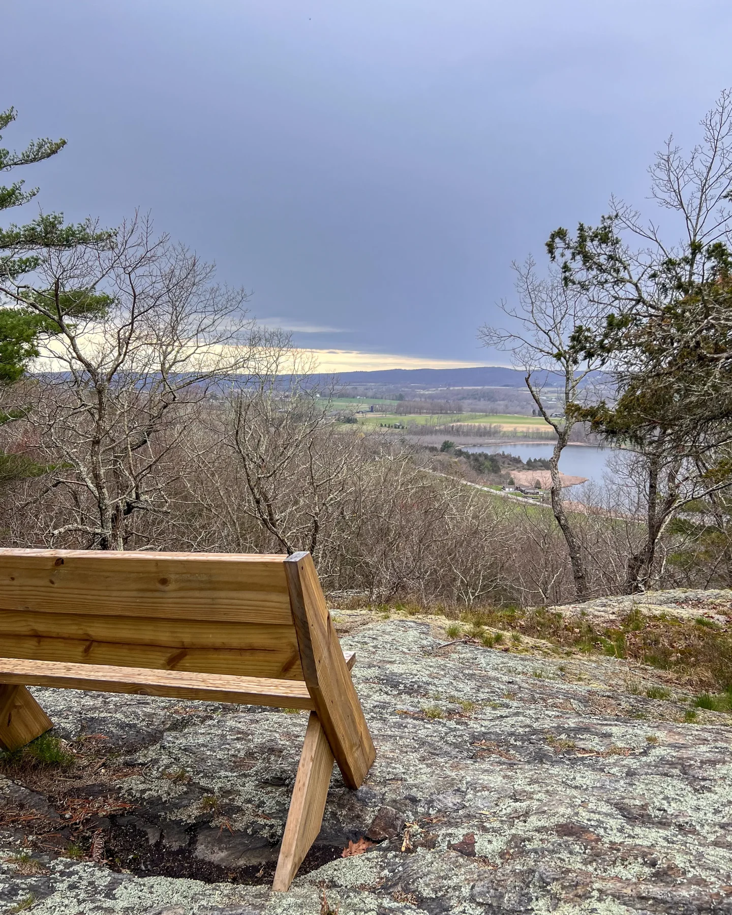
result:
<svg viewBox="0 0 732 915"><path fill-rule="evenodd" d="M303 680L285 558L0 549L0 656Z"/></svg>

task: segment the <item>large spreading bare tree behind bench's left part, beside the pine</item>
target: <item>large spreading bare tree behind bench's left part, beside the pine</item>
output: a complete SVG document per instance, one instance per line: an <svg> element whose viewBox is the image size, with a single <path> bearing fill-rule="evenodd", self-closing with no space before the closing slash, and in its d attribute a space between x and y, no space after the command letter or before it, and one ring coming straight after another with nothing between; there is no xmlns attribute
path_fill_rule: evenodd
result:
<svg viewBox="0 0 732 915"><path fill-rule="evenodd" d="M232 374L254 371L262 333L242 290L214 284L210 264L145 219L106 249L39 261L32 284L6 278L2 289L50 330L32 416L56 468L27 511L48 516L51 543L145 546L135 519L168 511L171 453L191 414Z"/></svg>

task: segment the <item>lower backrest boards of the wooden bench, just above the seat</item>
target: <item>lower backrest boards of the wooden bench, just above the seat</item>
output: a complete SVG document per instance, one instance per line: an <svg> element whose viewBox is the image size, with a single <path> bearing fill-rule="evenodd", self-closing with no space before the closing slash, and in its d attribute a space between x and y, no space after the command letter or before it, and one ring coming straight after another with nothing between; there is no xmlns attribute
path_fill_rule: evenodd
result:
<svg viewBox="0 0 732 915"><path fill-rule="evenodd" d="M0 610L0 646L7 658L303 679L292 623Z"/></svg>

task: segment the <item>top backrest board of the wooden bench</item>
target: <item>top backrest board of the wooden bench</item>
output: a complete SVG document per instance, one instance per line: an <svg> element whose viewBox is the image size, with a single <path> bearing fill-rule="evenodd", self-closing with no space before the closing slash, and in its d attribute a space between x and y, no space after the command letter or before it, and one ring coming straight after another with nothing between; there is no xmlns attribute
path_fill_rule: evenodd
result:
<svg viewBox="0 0 732 915"><path fill-rule="evenodd" d="M284 559L0 549L0 608L287 625Z"/></svg>

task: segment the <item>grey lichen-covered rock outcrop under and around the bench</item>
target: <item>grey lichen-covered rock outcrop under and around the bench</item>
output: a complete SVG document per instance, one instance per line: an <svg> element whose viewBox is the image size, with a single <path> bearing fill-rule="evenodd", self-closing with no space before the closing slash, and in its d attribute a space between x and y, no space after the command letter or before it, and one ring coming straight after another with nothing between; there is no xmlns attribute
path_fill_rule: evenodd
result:
<svg viewBox="0 0 732 915"><path fill-rule="evenodd" d="M78 764L5 766L0 912L732 913L726 714L685 723L640 665L335 612L378 757L359 791L334 772L290 892L305 714L38 689Z"/></svg>

